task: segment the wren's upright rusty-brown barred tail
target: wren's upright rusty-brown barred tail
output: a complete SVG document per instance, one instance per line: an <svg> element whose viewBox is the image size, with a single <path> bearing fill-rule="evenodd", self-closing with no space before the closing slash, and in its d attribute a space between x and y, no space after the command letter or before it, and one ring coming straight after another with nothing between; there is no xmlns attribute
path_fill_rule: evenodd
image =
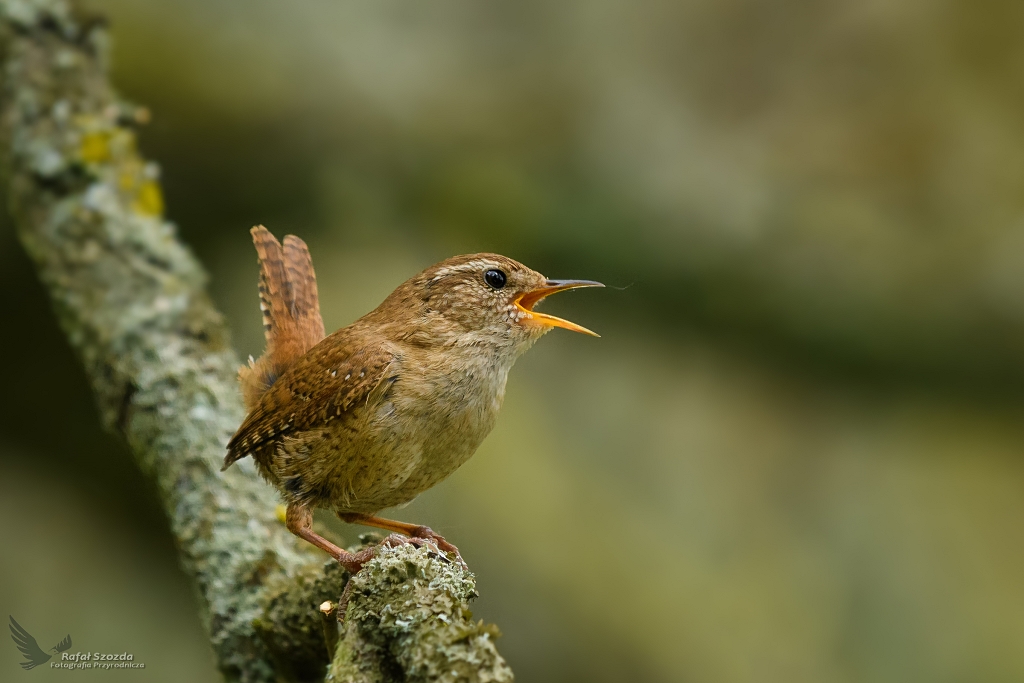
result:
<svg viewBox="0 0 1024 683"><path fill-rule="evenodd" d="M250 233L259 256L259 305L266 336L263 355L257 360L250 356L249 365L239 370L242 396L252 411L282 373L324 339L324 319L306 243L289 234L282 246L262 225Z"/></svg>

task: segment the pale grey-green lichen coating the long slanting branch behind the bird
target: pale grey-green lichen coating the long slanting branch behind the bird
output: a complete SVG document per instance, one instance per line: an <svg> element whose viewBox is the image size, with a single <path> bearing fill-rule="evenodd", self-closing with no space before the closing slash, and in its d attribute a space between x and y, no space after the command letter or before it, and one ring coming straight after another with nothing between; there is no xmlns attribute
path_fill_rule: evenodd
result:
<svg viewBox="0 0 1024 683"><path fill-rule="evenodd" d="M251 467L219 473L243 416L238 360L199 263L139 198L155 174L96 58L101 29L80 30L88 24L73 14L56 0L0 2L2 146L15 226L103 422L157 482L221 670L278 680L253 622L271 581L323 560L276 521L276 498ZM102 154L95 142L83 154L92 134L102 136Z"/></svg>

